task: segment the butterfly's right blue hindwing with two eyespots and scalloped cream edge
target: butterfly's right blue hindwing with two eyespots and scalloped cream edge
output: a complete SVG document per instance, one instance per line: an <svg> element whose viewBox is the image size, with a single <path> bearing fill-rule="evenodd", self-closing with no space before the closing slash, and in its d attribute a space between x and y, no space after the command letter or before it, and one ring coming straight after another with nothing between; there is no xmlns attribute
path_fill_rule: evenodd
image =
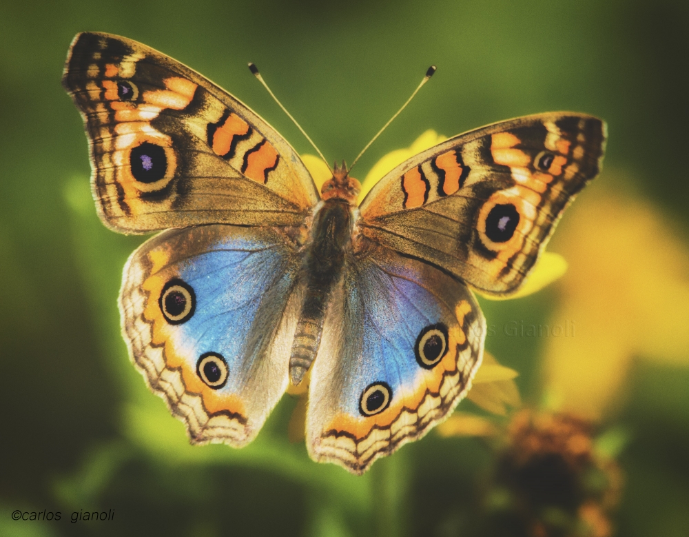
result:
<svg viewBox="0 0 689 537"><path fill-rule="evenodd" d="M311 370L307 449L362 474L420 438L471 386L486 334L467 287L383 247L347 267Z"/></svg>

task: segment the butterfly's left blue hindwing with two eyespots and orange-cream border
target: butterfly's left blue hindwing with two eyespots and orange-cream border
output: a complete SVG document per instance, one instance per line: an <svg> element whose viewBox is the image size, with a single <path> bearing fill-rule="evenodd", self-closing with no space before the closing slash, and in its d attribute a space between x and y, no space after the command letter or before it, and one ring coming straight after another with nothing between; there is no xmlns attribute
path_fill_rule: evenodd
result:
<svg viewBox="0 0 689 537"><path fill-rule="evenodd" d="M282 232L232 225L169 230L130 257L130 356L192 442L246 445L285 392L299 266Z"/></svg>

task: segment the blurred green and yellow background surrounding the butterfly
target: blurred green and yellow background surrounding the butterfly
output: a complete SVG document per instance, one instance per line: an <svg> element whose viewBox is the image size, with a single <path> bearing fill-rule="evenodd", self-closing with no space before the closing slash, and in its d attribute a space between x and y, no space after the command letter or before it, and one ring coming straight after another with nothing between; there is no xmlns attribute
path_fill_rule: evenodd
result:
<svg viewBox="0 0 689 537"><path fill-rule="evenodd" d="M0 535L688 535L688 28L683 0L1 1ZM615 468L599 489L617 496L599 498L588 525L528 511L566 485L528 496L553 472L505 479L517 410L471 401L458 410L492 429L431 432L362 477L289 441L291 396L243 450L189 446L119 334L121 268L144 238L107 231L90 199L81 119L60 85L83 30L183 61L312 152L254 61L331 160L351 161L438 65L358 177L428 129L548 110L606 119L604 172L549 246L567 274L482 305L495 328L486 348L519 372L524 407L582 416L593 456ZM558 323L575 332L528 332ZM15 509L63 519L14 522ZM96 509L116 514L68 520Z"/></svg>

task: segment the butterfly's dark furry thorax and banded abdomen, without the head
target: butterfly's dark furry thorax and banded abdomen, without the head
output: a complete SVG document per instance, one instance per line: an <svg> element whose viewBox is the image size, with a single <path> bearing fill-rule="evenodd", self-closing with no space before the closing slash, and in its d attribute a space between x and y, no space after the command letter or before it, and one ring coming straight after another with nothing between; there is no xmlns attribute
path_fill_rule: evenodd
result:
<svg viewBox="0 0 689 537"><path fill-rule="evenodd" d="M349 211L346 202L328 200L313 221L312 241L303 267L306 297L289 358L289 378L294 385L302 381L316 358L327 305L333 287L342 278L345 256L351 247Z"/></svg>

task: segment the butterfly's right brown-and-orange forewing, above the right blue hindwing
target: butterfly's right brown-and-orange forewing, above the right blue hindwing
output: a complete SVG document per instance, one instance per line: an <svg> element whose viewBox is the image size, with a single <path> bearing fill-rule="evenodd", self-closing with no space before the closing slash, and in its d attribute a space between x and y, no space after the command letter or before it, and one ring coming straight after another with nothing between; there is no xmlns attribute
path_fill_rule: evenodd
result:
<svg viewBox="0 0 689 537"><path fill-rule="evenodd" d="M460 134L392 170L360 206L364 236L482 292L515 291L600 170L606 125L552 112Z"/></svg>

